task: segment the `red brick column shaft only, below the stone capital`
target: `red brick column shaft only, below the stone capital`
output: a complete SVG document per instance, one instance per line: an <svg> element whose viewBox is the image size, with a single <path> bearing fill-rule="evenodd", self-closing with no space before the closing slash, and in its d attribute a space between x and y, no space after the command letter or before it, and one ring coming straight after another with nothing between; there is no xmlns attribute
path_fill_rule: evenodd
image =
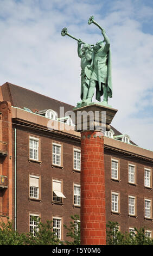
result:
<svg viewBox="0 0 153 256"><path fill-rule="evenodd" d="M104 135L81 132L81 245L106 245Z"/></svg>

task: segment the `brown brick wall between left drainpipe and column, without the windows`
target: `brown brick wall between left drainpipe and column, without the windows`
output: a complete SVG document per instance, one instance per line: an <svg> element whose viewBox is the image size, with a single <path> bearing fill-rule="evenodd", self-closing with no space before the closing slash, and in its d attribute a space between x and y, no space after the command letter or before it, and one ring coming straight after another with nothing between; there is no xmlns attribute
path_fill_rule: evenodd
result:
<svg viewBox="0 0 153 256"><path fill-rule="evenodd" d="M29 135L40 137L41 161L29 160ZM73 172L73 147L80 143L67 142L67 139L45 135L24 127L17 127L17 230L29 231L29 215L37 214L42 222L61 217L62 224L69 225L71 215L80 215L80 208L73 204L73 184L80 184L80 173ZM52 142L62 144L63 168L52 167ZM14 164L14 162L13 162ZM40 177L39 199L29 197L29 175ZM52 200L52 179L62 181L62 203ZM24 204L23 204L24 202ZM62 239L66 239L66 230L62 228Z"/></svg>

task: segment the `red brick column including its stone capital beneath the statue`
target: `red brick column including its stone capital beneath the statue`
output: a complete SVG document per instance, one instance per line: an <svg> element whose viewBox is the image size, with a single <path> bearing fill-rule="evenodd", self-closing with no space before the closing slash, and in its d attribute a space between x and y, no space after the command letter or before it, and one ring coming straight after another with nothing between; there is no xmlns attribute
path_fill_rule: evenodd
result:
<svg viewBox="0 0 153 256"><path fill-rule="evenodd" d="M81 132L81 245L105 245L104 131L117 110L94 104L73 111Z"/></svg>

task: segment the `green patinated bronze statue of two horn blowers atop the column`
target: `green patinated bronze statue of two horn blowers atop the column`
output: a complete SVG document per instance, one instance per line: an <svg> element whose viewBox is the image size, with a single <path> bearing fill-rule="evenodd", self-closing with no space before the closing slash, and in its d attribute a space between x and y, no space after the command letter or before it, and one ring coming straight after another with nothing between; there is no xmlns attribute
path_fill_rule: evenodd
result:
<svg viewBox="0 0 153 256"><path fill-rule="evenodd" d="M76 107L93 104L92 99L95 90L95 99L98 101L101 101L100 97L103 95L103 101L100 102L100 105L108 106L108 98L112 97L110 40L105 29L94 21L93 16L88 20L88 24L91 23L98 26L104 36L104 40L98 41L95 45L86 44L68 34L67 28L63 28L61 31L62 36L68 35L78 41L78 56L81 58L82 101L78 102Z"/></svg>

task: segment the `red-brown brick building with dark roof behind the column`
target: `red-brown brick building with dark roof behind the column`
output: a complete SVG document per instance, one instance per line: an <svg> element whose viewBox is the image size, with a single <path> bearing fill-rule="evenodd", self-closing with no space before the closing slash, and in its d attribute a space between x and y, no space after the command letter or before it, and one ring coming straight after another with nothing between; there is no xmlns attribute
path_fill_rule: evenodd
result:
<svg viewBox="0 0 153 256"><path fill-rule="evenodd" d="M63 224L80 215L80 133L66 115L73 106L10 83L0 101L0 217L20 232L33 231L31 216L53 220L65 240ZM152 236L152 151L111 127L104 155L106 222L121 231L145 226Z"/></svg>

